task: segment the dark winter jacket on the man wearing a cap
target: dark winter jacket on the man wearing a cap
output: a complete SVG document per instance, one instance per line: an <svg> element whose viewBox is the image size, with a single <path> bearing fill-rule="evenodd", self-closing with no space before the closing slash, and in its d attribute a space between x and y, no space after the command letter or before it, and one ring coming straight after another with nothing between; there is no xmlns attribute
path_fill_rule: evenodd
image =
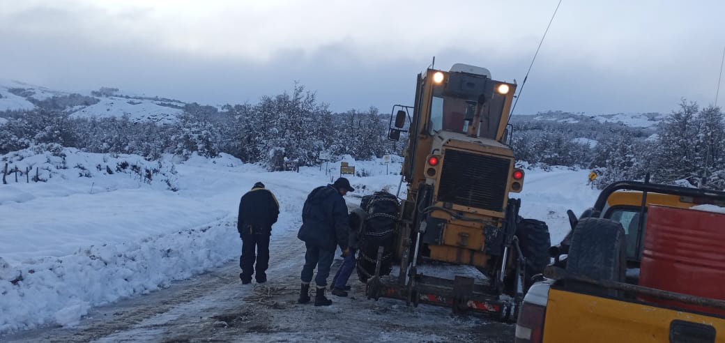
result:
<svg viewBox="0 0 725 343"><path fill-rule="evenodd" d="M350 232L347 204L332 185L313 189L302 208L297 238L326 250L347 249Z"/></svg>

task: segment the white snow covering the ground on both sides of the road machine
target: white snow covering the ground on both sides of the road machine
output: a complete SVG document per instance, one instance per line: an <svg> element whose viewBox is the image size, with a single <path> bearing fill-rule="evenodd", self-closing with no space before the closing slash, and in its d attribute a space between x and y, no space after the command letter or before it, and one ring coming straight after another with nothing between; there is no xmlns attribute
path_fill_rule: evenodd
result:
<svg viewBox="0 0 725 343"><path fill-rule="evenodd" d="M299 173L268 173L228 155L159 163L63 149L5 159L9 169L38 168L46 182L25 183L23 176L15 183L11 174L7 185L0 184L0 334L73 326L91 307L147 294L237 259L239 197L256 181L280 202L273 241L289 236L299 228L307 193L339 176L339 161ZM128 166L121 168L124 162ZM367 175L347 175L357 189L349 202L359 202L352 195L397 191L399 157L387 166L383 160L347 162ZM134 165L140 173L132 171ZM146 169L156 170L151 180ZM586 186L588 173L526 170L523 192L515 195L523 200L521 215L546 221L552 243L558 243L568 231L566 210L578 214L594 203L597 191ZM405 197L405 184L401 193Z"/></svg>

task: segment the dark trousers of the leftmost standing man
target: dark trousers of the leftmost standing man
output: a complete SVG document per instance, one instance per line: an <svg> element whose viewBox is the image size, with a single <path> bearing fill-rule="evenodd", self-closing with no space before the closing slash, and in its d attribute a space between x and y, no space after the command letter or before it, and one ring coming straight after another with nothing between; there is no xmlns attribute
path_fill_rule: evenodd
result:
<svg viewBox="0 0 725 343"><path fill-rule="evenodd" d="M256 260L257 265L254 266L255 254L254 248L257 248ZM241 237L241 257L239 257L239 268L241 281L252 281L252 274L255 274L257 281L267 281L267 268L270 263L270 235L269 234L244 234Z"/></svg>

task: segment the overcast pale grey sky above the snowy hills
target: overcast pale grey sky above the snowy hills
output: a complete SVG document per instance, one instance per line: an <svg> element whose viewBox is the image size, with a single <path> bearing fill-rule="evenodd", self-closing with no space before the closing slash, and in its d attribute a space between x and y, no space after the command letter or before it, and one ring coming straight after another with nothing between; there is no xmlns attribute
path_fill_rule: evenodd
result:
<svg viewBox="0 0 725 343"><path fill-rule="evenodd" d="M254 104L298 80L334 111L389 112L412 104L433 57L521 85L557 4L0 0L0 78L203 104ZM515 113L714 104L724 17L721 0L563 0Z"/></svg>

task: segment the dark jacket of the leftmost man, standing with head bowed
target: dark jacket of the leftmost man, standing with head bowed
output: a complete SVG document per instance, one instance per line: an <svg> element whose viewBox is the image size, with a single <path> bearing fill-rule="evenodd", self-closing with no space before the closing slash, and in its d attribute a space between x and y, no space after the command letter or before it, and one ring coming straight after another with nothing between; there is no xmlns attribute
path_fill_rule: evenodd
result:
<svg viewBox="0 0 725 343"><path fill-rule="evenodd" d="M239 236L245 234L272 234L272 224L277 223L279 203L271 191L255 188L239 201L239 218L236 228Z"/></svg>

